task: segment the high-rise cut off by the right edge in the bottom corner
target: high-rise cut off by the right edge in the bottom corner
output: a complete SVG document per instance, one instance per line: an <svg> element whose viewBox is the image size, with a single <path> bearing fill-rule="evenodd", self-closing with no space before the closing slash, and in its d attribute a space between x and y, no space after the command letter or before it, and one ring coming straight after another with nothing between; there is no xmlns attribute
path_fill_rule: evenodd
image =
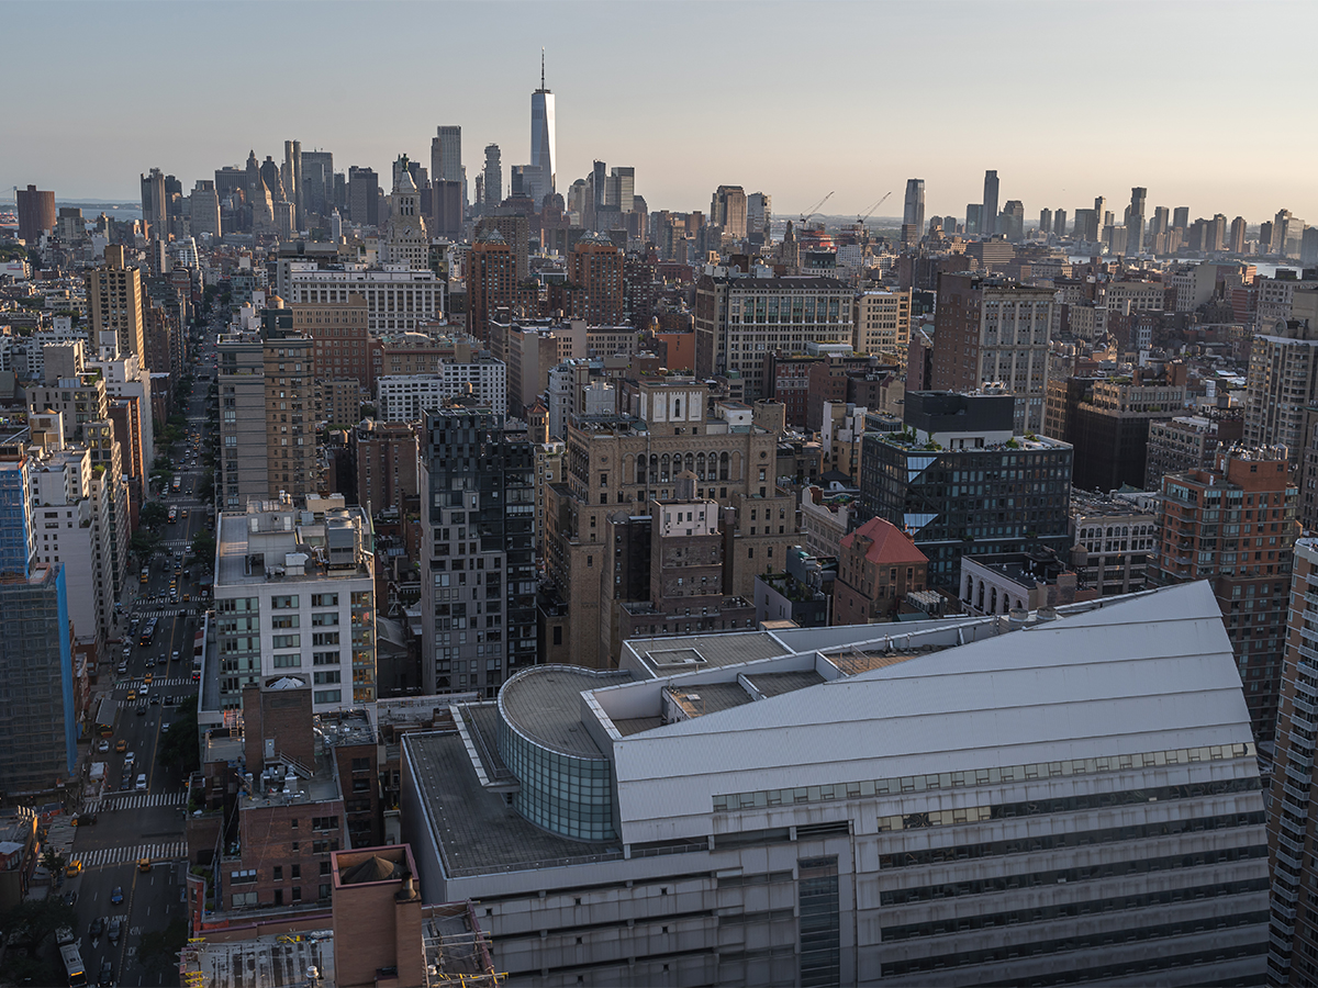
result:
<svg viewBox="0 0 1318 988"><path fill-rule="evenodd" d="M1298 539L1290 578L1285 660L1277 706L1276 756L1268 800L1268 858L1272 913L1268 950L1271 984L1318 984L1314 858L1318 801L1314 797L1314 734L1318 731L1318 631L1309 618L1318 586L1318 539Z"/></svg>

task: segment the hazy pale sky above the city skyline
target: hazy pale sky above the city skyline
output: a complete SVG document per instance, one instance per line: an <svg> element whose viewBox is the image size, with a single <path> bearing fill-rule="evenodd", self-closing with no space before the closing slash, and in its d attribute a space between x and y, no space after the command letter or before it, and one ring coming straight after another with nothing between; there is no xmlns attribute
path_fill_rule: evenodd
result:
<svg viewBox="0 0 1318 988"><path fill-rule="evenodd" d="M1151 213L1318 223L1318 62L1288 41L1315 26L1310 3L4 3L0 187L137 199L154 166L187 191L285 138L387 177L460 124L469 182L493 141L506 190L543 45L559 191L600 158L651 209L729 183L899 215L913 175L960 217L996 169L1027 219L1120 216L1141 184Z"/></svg>

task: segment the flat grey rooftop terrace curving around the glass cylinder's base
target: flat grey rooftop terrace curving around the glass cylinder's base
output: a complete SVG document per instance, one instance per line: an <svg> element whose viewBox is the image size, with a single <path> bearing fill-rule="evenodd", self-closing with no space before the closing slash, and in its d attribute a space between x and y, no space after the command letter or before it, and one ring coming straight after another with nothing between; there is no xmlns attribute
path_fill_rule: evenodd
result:
<svg viewBox="0 0 1318 988"><path fill-rule="evenodd" d="M621 842L588 844L527 822L502 793L481 785L456 731L409 734L403 752L414 767L420 804L431 815L430 833L449 876L622 858Z"/></svg>

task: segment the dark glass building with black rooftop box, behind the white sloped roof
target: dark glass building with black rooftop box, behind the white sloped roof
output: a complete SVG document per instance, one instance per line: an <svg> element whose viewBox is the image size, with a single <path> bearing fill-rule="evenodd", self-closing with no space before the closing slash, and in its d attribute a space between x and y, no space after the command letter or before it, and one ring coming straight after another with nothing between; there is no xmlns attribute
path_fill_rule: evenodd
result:
<svg viewBox="0 0 1318 988"><path fill-rule="evenodd" d="M1039 543L1065 557L1070 444L1021 435L1007 394L907 391L903 420L865 433L861 502L911 535L931 586L956 590L962 556Z"/></svg>

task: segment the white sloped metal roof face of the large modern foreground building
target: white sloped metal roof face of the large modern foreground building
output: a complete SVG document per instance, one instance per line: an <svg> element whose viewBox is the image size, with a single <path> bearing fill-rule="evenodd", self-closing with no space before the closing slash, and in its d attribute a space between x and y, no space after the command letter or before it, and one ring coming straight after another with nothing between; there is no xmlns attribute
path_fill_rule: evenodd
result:
<svg viewBox="0 0 1318 988"><path fill-rule="evenodd" d="M1251 740L1201 582L651 728L614 759L623 826L677 825L720 793Z"/></svg>

